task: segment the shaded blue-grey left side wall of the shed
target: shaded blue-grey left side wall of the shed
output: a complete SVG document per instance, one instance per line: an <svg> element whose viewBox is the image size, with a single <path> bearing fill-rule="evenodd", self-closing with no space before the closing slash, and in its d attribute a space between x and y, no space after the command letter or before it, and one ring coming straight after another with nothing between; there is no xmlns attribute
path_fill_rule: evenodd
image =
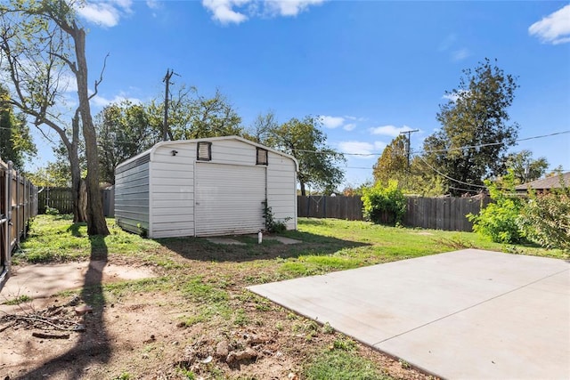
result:
<svg viewBox="0 0 570 380"><path fill-rule="evenodd" d="M115 219L123 229L141 233L149 230L149 167L148 159L137 165L119 166L115 174Z"/></svg>

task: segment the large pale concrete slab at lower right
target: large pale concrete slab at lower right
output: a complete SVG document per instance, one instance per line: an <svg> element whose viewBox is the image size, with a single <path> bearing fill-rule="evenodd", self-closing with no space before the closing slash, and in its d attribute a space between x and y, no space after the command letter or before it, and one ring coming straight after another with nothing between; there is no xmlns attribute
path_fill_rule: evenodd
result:
<svg viewBox="0 0 570 380"><path fill-rule="evenodd" d="M466 249L250 287L444 378L570 378L570 263Z"/></svg>

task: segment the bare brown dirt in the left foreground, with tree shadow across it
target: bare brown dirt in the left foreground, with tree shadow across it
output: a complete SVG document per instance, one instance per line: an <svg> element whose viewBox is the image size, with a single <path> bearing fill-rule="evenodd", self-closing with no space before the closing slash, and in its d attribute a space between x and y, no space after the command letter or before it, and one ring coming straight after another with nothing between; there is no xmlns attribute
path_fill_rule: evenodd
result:
<svg viewBox="0 0 570 380"><path fill-rule="evenodd" d="M255 267L244 271L238 263L197 262L183 257L175 261L189 264L187 271L203 277L206 282L219 281L220 273L224 273L224 279L232 279L225 287L228 303L233 310L242 312L242 320L232 317L228 321L214 315L211 319L188 323L189 318L202 312L200 308L206 307L204 304L190 302L175 292L136 290L127 295L101 291L103 299L91 303L93 311L77 315L77 304L85 304L86 299L97 300L93 294L99 295L102 285L118 279L145 278L143 274L156 276L148 267L107 263L101 271L102 284L95 281L78 289L76 303L69 304L74 295L64 295L34 300L21 308L11 306L20 309L20 312L10 311L18 315L44 312L42 315L54 323L65 319L84 326L84 331L63 331L42 322L6 319L7 311L0 312L4 315L0 315L0 328L13 323L1 333L0 374L10 379L115 379L121 376L185 379L190 373L203 379L303 378L299 374L305 362L316 352L331 349L338 339L338 334L325 332L313 321L260 301L256 296L250 298L252 294L245 290L249 282L245 279L260 275ZM84 276L87 273L78 268L89 269L84 264L67 265ZM94 263L91 270L96 273L97 268L101 268L98 265ZM26 272L25 268L19 268L19 276ZM155 269L158 274L165 274ZM75 285L73 281L68 284ZM55 315L51 315L50 310ZM69 338L37 337L34 333L40 336L69 334ZM379 363L380 368L395 378L425 378L368 347L359 346L358 353L363 359Z"/></svg>

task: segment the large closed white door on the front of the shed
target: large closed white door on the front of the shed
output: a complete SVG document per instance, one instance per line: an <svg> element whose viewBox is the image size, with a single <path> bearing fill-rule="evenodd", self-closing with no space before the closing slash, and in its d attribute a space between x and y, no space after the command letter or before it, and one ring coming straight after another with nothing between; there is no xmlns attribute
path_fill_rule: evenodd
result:
<svg viewBox="0 0 570 380"><path fill-rule="evenodd" d="M196 163L196 236L253 233L265 227L266 167Z"/></svg>

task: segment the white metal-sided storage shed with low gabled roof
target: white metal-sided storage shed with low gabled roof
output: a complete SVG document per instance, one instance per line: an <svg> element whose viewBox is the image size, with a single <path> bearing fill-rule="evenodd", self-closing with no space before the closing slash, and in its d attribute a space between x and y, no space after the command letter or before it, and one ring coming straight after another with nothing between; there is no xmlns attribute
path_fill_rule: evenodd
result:
<svg viewBox="0 0 570 380"><path fill-rule="evenodd" d="M238 136L163 141L115 169L115 219L149 238L297 230L297 161Z"/></svg>

